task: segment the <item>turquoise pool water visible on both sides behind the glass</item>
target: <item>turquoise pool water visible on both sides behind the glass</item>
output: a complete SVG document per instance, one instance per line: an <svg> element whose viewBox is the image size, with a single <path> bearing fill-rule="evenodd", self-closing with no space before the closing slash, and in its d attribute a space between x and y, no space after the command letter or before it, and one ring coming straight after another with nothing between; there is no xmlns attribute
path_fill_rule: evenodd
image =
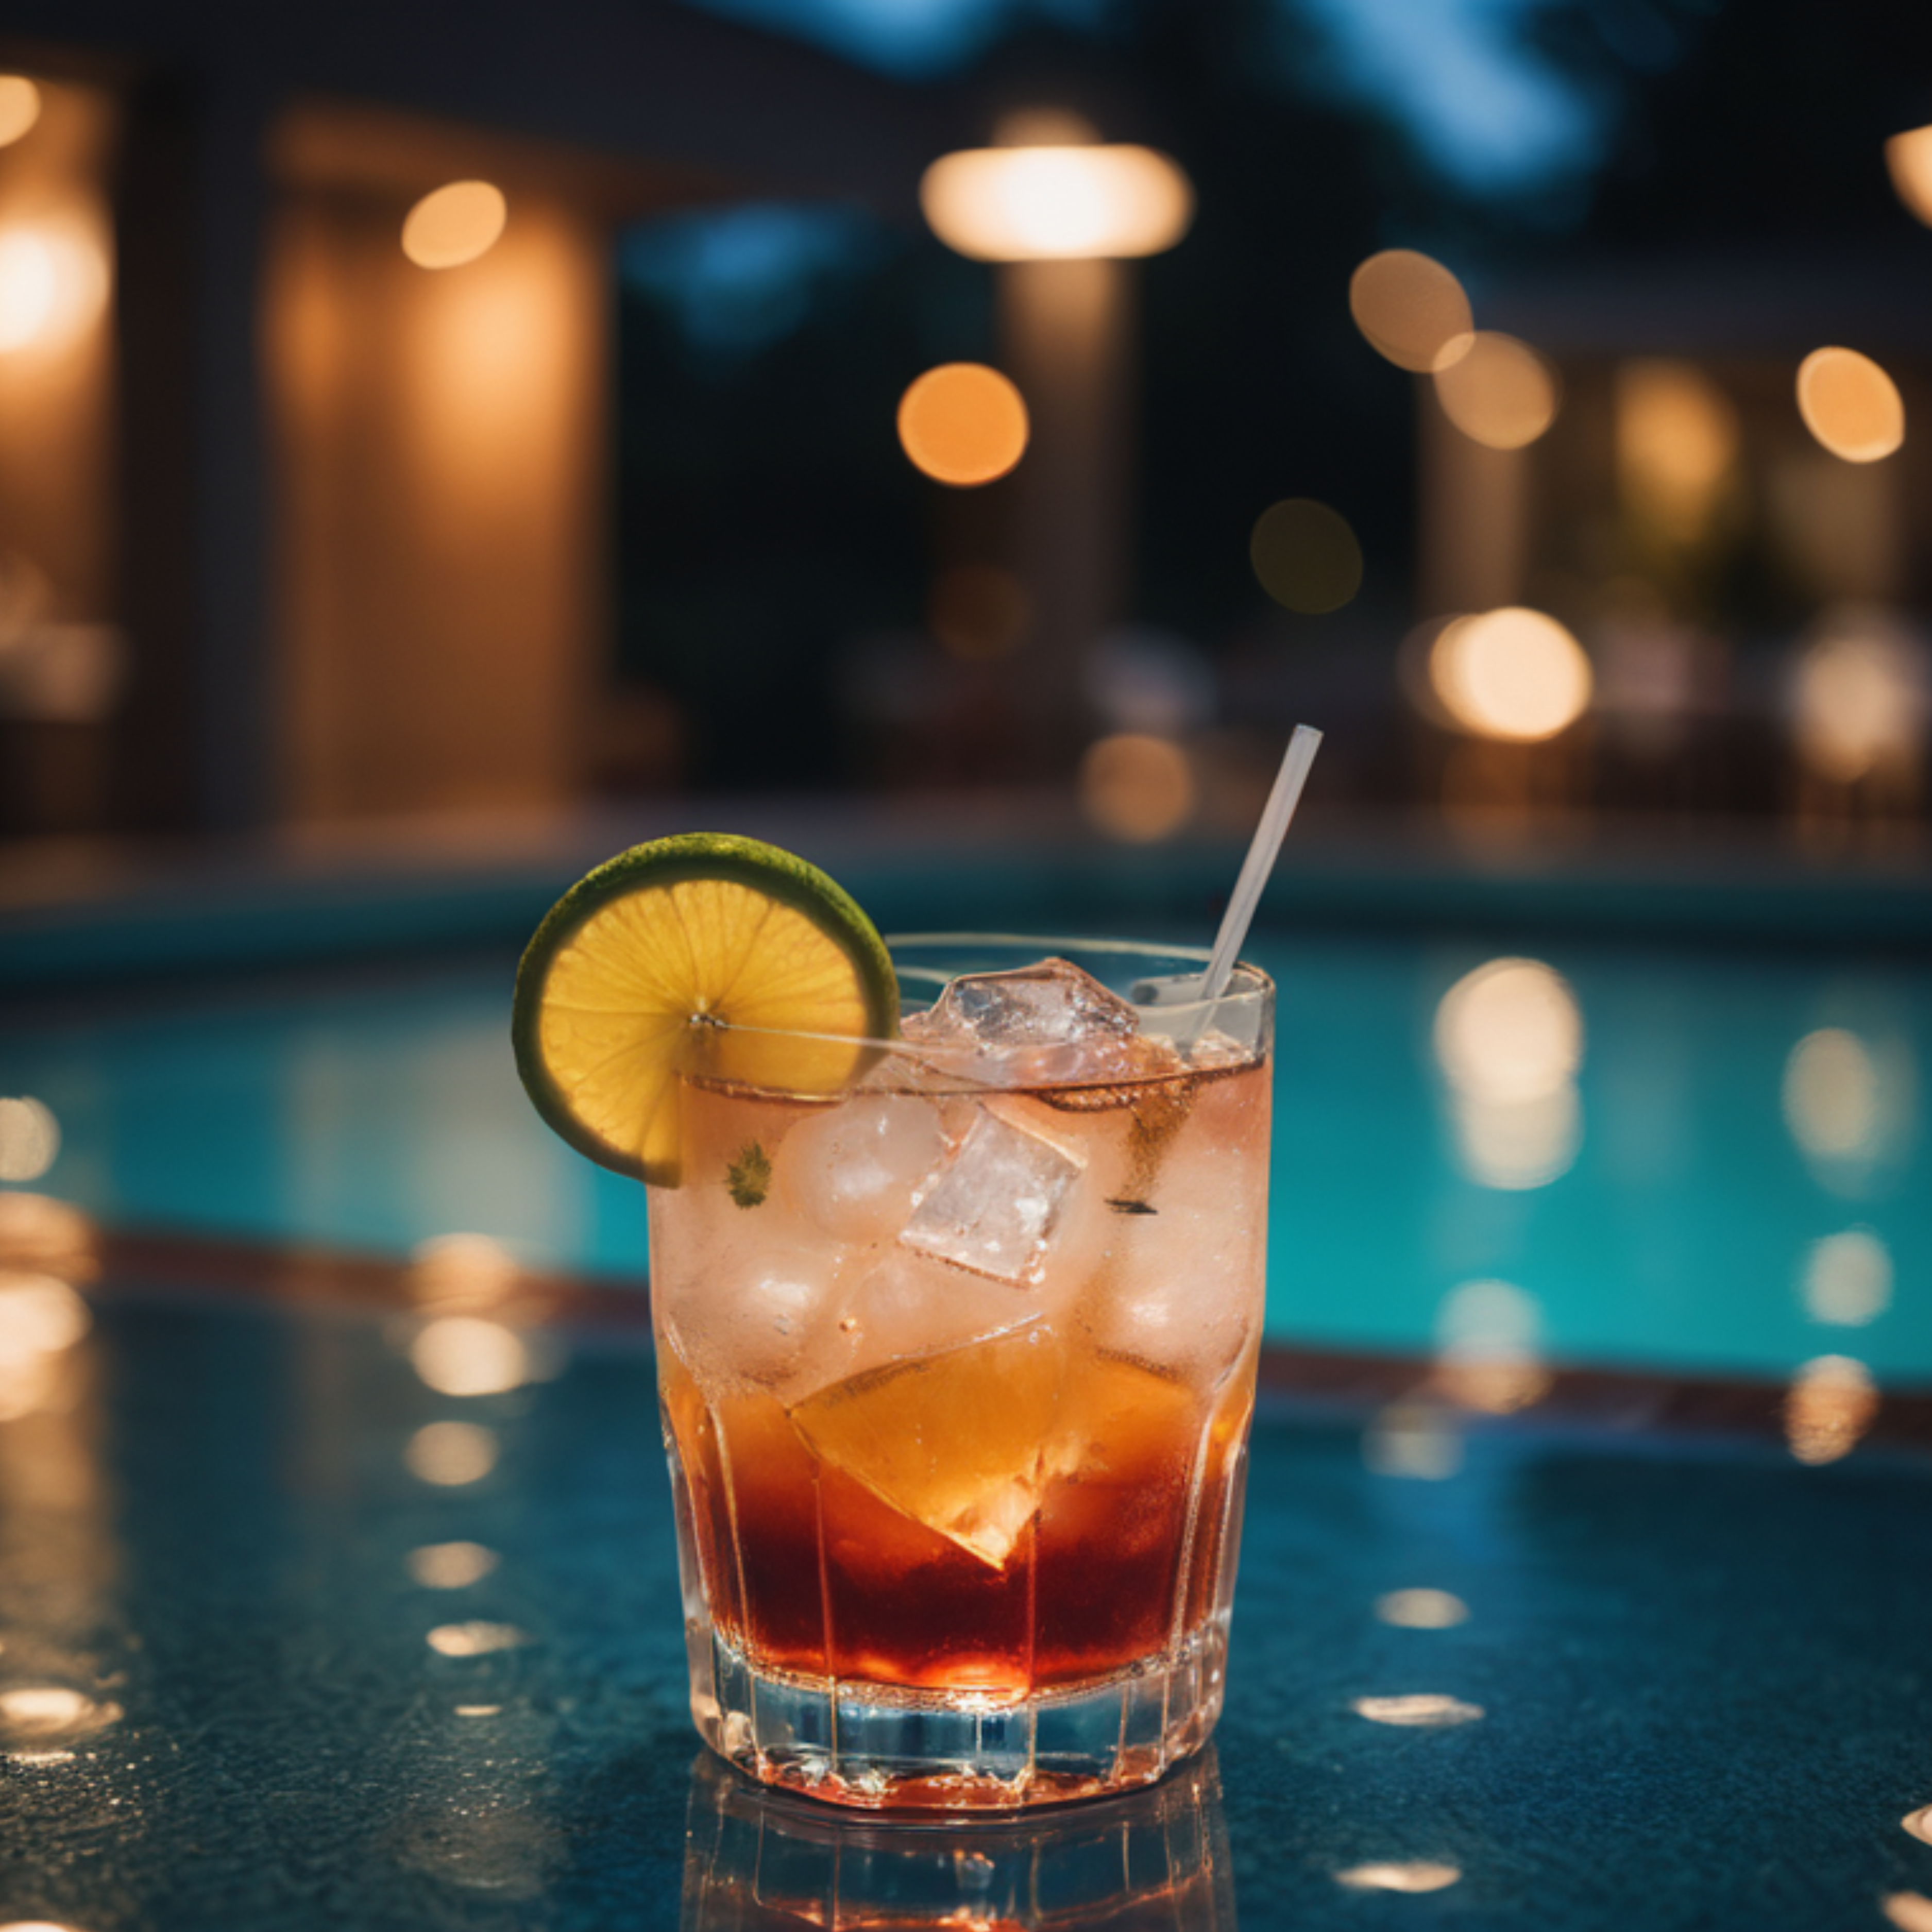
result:
<svg viewBox="0 0 1932 1932"><path fill-rule="evenodd" d="M1932 987L1911 960L1262 933L1281 983L1269 1329L1561 1362L1932 1383ZM535 1121L500 962L15 1009L33 1184L141 1227L612 1283L641 1190Z"/></svg>

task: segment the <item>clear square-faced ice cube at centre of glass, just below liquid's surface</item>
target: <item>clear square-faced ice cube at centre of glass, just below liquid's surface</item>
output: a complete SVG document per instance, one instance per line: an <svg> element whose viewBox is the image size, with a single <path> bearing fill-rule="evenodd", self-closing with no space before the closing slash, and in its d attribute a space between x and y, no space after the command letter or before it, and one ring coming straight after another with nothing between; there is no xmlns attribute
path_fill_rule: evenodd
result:
<svg viewBox="0 0 1932 1932"><path fill-rule="evenodd" d="M1066 1148L980 1109L898 1238L995 1281L1034 1283L1078 1175Z"/></svg>

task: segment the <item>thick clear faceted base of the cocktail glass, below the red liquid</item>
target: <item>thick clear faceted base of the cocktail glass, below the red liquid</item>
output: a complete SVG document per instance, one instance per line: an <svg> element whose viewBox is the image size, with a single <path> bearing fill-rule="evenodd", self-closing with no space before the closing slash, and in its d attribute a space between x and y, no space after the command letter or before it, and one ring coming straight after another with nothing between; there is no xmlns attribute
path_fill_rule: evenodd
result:
<svg viewBox="0 0 1932 1932"><path fill-rule="evenodd" d="M755 1667L688 1625L692 1716L748 1776L866 1810L1012 1810L1150 1785L1208 1743L1227 1679L1227 1617L1175 1656L1030 1698L898 1690Z"/></svg>

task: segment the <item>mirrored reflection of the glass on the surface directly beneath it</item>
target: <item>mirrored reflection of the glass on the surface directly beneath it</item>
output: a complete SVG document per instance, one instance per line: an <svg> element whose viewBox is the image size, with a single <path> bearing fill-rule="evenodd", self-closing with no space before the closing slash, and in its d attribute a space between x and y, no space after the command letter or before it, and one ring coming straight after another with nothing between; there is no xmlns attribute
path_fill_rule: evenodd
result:
<svg viewBox="0 0 1932 1932"><path fill-rule="evenodd" d="M1151 1791L1028 1824L885 1824L692 1774L682 1932L1235 1932L1213 1754Z"/></svg>

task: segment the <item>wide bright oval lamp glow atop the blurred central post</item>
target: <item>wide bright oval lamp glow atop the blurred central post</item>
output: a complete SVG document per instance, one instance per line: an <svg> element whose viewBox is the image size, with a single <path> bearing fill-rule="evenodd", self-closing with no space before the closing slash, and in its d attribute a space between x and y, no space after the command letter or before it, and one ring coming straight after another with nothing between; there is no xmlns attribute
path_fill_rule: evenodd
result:
<svg viewBox="0 0 1932 1932"><path fill-rule="evenodd" d="M1159 255L1188 232L1194 187L1151 147L976 147L925 170L920 207L974 261Z"/></svg>

